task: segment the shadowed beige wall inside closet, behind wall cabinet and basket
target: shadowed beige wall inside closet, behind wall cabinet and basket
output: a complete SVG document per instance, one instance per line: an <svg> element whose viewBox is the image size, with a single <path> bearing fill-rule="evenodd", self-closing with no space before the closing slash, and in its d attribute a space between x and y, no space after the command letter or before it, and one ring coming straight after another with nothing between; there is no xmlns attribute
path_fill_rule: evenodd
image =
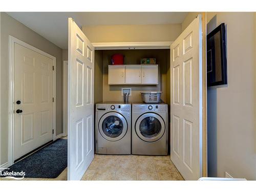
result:
<svg viewBox="0 0 256 192"><path fill-rule="evenodd" d="M125 55L125 64L138 64L140 58L156 58L159 65L159 84L151 86L142 85L109 85L108 65L110 65L111 55L120 53ZM130 102L141 102L141 91L163 91L161 99L166 102L166 73L169 61L169 50L104 50L103 51L103 102L123 101L121 88L132 88ZM169 88L168 88L169 90Z"/></svg>

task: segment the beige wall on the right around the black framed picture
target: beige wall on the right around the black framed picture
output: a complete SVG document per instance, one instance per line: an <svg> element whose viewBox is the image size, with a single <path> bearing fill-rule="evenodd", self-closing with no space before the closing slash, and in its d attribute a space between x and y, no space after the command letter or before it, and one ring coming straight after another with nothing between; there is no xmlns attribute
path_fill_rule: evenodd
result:
<svg viewBox="0 0 256 192"><path fill-rule="evenodd" d="M254 14L255 15L255 14ZM254 17L255 19L255 17ZM208 174L256 180L253 13L207 13L207 32L226 25L227 82L208 97Z"/></svg>

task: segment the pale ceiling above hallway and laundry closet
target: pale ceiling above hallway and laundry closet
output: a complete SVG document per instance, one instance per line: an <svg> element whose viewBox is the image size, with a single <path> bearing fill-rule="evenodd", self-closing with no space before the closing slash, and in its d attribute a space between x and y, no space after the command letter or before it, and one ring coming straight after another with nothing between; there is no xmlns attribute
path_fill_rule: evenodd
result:
<svg viewBox="0 0 256 192"><path fill-rule="evenodd" d="M85 25L180 24L187 12L7 12L61 49L68 49L68 17Z"/></svg>

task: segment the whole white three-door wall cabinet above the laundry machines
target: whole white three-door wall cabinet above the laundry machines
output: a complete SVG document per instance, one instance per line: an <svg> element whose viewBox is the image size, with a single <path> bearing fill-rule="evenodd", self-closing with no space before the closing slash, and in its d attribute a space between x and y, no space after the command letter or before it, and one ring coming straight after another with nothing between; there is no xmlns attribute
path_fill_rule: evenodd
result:
<svg viewBox="0 0 256 192"><path fill-rule="evenodd" d="M158 84L158 65L109 66L109 84Z"/></svg>

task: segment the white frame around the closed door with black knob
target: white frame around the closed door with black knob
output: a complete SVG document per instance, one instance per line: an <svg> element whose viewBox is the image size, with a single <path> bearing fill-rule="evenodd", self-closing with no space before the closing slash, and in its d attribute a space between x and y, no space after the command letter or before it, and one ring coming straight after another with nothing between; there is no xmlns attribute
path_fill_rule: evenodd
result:
<svg viewBox="0 0 256 192"><path fill-rule="evenodd" d="M56 57L41 51L26 42L19 40L11 35L9 35L9 101L8 101L8 129L9 129L9 138L8 138L8 162L9 166L14 164L14 44L19 44L24 46L32 51L35 51L41 55L53 59L53 97L55 101L53 102L53 141L56 139Z"/></svg>

